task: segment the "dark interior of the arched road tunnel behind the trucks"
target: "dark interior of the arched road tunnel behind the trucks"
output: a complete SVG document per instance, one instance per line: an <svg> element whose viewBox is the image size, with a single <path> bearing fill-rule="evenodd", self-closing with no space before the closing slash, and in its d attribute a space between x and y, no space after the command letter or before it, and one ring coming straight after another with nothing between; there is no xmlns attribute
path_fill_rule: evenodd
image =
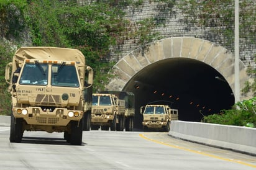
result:
<svg viewBox="0 0 256 170"><path fill-rule="evenodd" d="M179 120L191 122L234 105L226 79L211 66L190 58L157 61L135 74L123 91L135 94L134 128L139 129L143 120L140 107L150 102L168 104L178 109Z"/></svg>

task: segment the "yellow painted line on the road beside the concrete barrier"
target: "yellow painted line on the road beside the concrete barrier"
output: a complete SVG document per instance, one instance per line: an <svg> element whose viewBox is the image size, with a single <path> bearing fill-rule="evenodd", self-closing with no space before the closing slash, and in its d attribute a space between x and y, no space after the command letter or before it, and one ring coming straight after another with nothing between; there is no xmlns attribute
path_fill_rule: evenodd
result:
<svg viewBox="0 0 256 170"><path fill-rule="evenodd" d="M238 161L238 160L234 160L234 159L228 159L228 158L222 158L220 156L216 156L216 155L213 155L213 154L209 154L209 153L204 153L202 151L196 151L196 150L191 150L191 149L188 149L188 148L183 148L181 146L177 146L177 145L170 145L168 143L163 143L161 141L157 141L157 140L153 140L153 139L150 139L150 138L147 138L147 136L145 136L144 134L140 133L139 136L141 138L144 138L145 140L149 140L149 141L153 141L155 143L158 143L158 144L161 144L161 145L165 145L165 146L170 146L171 148L176 148L176 149L179 149L179 150L184 150L184 151L189 151L189 152L192 152L192 153L197 153L197 154L202 154L204 156L209 156L211 158L216 158L216 159L221 159L223 161L229 161L229 162L232 162L232 163L238 163L238 164L243 164L245 166L250 166L252 168L256 168L256 165L254 164L249 164L249 163L245 163L243 161Z"/></svg>

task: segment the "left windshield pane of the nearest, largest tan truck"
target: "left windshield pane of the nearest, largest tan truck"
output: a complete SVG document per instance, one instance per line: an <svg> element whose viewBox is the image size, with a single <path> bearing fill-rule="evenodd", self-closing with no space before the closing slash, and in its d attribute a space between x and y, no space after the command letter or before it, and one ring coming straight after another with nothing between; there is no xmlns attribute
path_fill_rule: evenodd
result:
<svg viewBox="0 0 256 170"><path fill-rule="evenodd" d="M26 63L21 73L19 84L46 86L48 84L48 65Z"/></svg>

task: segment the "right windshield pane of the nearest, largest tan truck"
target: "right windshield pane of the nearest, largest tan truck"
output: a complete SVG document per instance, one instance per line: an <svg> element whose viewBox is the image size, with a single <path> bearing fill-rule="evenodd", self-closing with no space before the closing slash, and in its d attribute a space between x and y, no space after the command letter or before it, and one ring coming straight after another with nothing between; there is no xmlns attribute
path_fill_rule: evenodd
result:
<svg viewBox="0 0 256 170"><path fill-rule="evenodd" d="M75 66L52 65L52 86L79 87Z"/></svg>

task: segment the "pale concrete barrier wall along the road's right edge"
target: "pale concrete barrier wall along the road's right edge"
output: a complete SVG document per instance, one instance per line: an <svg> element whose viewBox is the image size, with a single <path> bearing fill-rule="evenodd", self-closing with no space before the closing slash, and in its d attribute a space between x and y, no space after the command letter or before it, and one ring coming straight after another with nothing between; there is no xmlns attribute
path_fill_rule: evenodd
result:
<svg viewBox="0 0 256 170"><path fill-rule="evenodd" d="M256 128L171 121L168 135L204 145L256 155Z"/></svg>

